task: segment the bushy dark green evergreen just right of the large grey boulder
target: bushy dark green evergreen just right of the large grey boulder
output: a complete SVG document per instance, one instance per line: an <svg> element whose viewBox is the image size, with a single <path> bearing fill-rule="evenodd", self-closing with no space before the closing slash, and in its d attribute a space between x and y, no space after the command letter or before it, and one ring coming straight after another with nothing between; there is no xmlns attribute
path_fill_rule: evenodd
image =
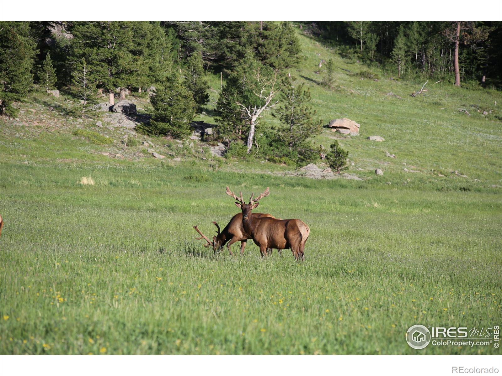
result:
<svg viewBox="0 0 502 376"><path fill-rule="evenodd" d="M190 122L195 116L192 93L170 74L164 88L150 98L154 107L151 131L155 134L183 137L191 133Z"/></svg>

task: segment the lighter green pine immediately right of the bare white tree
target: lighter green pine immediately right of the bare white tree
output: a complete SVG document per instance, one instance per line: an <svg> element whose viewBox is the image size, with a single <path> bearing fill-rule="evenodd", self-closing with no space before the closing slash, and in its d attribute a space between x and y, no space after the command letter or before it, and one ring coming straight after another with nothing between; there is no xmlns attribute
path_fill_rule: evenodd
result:
<svg viewBox="0 0 502 376"><path fill-rule="evenodd" d="M310 91L296 78L287 77L280 93L280 107L273 112L284 128L278 130L281 143L296 154L297 161L311 161L316 151L307 140L321 133L321 123L315 120L316 111L309 105Z"/></svg>

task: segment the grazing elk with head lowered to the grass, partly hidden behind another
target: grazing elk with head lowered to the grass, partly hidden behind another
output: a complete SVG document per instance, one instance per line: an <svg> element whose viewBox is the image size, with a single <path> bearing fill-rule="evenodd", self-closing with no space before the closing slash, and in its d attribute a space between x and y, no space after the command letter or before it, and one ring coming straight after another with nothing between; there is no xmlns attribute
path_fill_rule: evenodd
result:
<svg viewBox="0 0 502 376"><path fill-rule="evenodd" d="M272 215L266 213L255 213L255 216L259 218L262 217L275 218ZM223 231L220 231L220 227L216 222L213 222L213 224L216 226L218 231L217 235L213 236L212 242L209 240L208 237L206 237L204 234L200 232L197 226L192 226L195 229L195 231L197 231L200 234L200 238L195 238L195 239L197 240L204 239L207 242L204 245L204 247L209 247L209 246L213 247L213 251L215 253L216 251L219 251L221 248L223 248L223 246L226 244L226 248L228 249L230 255L233 255L232 251L230 250L230 246L233 243L240 241L240 254L241 255L244 254L246 241L251 237L242 228L242 213L237 213L236 215L234 215L230 220L230 222L228 222L228 225L225 226Z"/></svg>

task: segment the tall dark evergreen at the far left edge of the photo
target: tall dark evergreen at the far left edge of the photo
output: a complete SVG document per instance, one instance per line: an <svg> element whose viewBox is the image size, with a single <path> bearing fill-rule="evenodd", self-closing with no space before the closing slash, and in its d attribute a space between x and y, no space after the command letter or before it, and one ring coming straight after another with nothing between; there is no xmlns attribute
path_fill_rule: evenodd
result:
<svg viewBox="0 0 502 376"><path fill-rule="evenodd" d="M26 22L0 22L0 115L16 116L12 107L33 84L35 43Z"/></svg>

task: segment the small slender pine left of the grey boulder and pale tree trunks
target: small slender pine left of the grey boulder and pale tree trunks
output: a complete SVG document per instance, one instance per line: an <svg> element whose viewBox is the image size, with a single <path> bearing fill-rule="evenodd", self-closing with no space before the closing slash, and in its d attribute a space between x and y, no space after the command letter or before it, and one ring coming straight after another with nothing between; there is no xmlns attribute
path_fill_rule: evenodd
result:
<svg viewBox="0 0 502 376"><path fill-rule="evenodd" d="M72 76L72 92L80 100L81 105L78 112L82 116L89 116L93 112L92 105L97 102L97 92L95 78L85 59L75 65Z"/></svg>

